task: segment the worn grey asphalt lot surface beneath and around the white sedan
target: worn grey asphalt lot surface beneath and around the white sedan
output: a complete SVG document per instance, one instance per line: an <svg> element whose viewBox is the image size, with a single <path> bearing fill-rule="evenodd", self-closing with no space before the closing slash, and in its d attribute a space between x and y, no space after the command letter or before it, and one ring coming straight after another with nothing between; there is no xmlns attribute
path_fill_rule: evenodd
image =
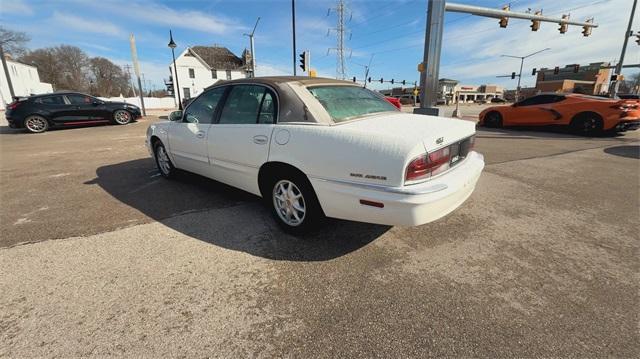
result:
<svg viewBox="0 0 640 359"><path fill-rule="evenodd" d="M0 357L640 355L640 132L480 130L447 217L295 238L151 121L0 131Z"/></svg>

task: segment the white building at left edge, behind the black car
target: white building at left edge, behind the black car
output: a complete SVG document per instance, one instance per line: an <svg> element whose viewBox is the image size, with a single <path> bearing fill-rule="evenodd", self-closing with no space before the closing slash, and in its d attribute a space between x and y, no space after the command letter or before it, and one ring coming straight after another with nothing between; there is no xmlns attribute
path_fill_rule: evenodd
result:
<svg viewBox="0 0 640 359"><path fill-rule="evenodd" d="M35 66L23 64L7 58L7 70L13 85L13 92L16 96L29 96L31 94L41 94L53 92L51 84L40 82L40 75ZM11 91L9 91L9 83L7 75L2 65L0 65L0 99L2 108L11 103Z"/></svg>

